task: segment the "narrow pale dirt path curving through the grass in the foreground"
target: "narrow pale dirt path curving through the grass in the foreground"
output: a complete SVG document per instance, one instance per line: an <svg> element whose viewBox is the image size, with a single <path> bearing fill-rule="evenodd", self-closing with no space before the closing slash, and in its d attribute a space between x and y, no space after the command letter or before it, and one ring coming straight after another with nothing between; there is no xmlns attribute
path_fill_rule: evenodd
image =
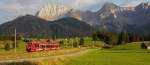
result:
<svg viewBox="0 0 150 65"><path fill-rule="evenodd" d="M24 62L24 61L36 61L36 60L44 60L44 59L51 59L51 58L59 58L59 57L64 57L64 56L79 56L79 55L85 54L93 50L96 50L96 49L87 49L87 50L76 52L76 53L70 53L70 54L58 55L58 56L47 56L47 57L39 57L39 58L27 58L27 59L0 61L0 64L9 64L9 63L14 63L14 62L17 63L17 62Z"/></svg>

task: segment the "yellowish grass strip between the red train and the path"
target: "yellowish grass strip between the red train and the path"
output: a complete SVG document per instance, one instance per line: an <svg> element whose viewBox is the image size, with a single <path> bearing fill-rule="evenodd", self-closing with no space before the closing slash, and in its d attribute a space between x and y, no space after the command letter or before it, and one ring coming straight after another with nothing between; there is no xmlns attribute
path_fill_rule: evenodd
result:
<svg viewBox="0 0 150 65"><path fill-rule="evenodd" d="M14 52L14 49L11 49L10 51L0 49L0 61L64 55L68 53L79 52L86 49L86 48L69 48L69 49L64 48L61 50L38 51L29 53L25 50L25 45L26 43L20 41L19 47L17 48L16 52Z"/></svg>

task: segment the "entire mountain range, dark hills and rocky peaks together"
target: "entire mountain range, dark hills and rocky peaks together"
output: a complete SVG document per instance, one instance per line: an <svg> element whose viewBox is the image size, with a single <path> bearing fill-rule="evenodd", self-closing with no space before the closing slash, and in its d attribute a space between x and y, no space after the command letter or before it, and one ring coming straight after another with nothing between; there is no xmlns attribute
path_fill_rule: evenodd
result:
<svg viewBox="0 0 150 65"><path fill-rule="evenodd" d="M67 6L47 5L35 16L20 16L0 25L0 35L76 37L91 35L95 29L108 32L150 34L150 3L120 7L106 3L100 10L80 11ZM93 30L93 28L95 28Z"/></svg>

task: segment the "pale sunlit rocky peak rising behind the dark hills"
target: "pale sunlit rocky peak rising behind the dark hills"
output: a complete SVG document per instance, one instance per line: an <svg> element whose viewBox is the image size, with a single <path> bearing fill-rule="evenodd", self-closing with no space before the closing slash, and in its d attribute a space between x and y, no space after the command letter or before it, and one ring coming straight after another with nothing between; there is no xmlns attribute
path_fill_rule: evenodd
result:
<svg viewBox="0 0 150 65"><path fill-rule="evenodd" d="M48 4L43 7L36 15L42 19L54 21L63 18L70 10L71 9L69 9L69 7L64 5Z"/></svg>

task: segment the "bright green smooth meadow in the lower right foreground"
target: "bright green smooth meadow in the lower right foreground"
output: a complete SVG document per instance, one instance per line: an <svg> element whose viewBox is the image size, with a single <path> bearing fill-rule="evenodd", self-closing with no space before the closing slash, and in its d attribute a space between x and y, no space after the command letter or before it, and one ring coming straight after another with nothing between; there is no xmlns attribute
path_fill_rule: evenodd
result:
<svg viewBox="0 0 150 65"><path fill-rule="evenodd" d="M149 50L96 50L64 65L150 65Z"/></svg>

